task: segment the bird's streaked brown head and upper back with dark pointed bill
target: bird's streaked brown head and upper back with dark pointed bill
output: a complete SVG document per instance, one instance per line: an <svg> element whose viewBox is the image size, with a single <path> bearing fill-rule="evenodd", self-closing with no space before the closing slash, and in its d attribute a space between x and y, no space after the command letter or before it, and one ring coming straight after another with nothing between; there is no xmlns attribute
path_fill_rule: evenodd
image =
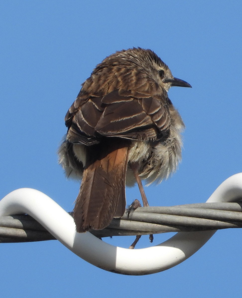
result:
<svg viewBox="0 0 242 298"><path fill-rule="evenodd" d="M132 48L115 52L96 66L90 77L92 87L107 93L115 89L166 92L171 86L192 87L173 77L169 67L152 50ZM90 86L91 82L86 81Z"/></svg>

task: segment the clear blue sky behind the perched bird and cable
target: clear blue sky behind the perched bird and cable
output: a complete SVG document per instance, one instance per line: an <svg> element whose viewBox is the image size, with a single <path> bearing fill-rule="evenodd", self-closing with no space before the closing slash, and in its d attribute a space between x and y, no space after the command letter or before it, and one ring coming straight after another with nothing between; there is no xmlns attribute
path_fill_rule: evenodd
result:
<svg viewBox="0 0 242 298"><path fill-rule="evenodd" d="M2 1L0 197L21 187L73 209L56 151L64 116L103 58L154 50L189 88L169 97L186 125L177 173L145 188L150 205L205 202L242 171L242 4L240 1ZM139 198L127 189L127 203ZM155 236L154 244L170 235ZM133 238L105 240L128 247ZM2 297L239 297L241 231L217 232L184 263L148 276L123 276L81 260L58 241L1 244ZM149 246L142 237L137 248Z"/></svg>

